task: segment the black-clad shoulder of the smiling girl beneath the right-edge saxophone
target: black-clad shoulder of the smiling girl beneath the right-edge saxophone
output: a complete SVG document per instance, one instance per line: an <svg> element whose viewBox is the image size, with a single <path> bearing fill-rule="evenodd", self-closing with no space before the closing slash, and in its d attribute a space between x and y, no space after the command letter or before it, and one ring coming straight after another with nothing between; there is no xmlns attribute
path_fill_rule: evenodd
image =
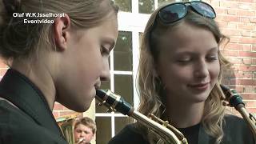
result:
<svg viewBox="0 0 256 144"><path fill-rule="evenodd" d="M254 143L254 136L243 118L226 114L223 124L224 139L234 143Z"/></svg>

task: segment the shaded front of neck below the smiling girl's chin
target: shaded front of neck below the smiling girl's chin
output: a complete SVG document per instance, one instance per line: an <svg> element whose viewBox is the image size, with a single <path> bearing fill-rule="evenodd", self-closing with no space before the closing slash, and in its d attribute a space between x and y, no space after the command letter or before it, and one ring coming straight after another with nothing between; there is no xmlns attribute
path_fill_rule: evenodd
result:
<svg viewBox="0 0 256 144"><path fill-rule="evenodd" d="M177 128L194 126L202 120L204 104L204 102L178 102L167 99L166 115L170 124Z"/></svg>

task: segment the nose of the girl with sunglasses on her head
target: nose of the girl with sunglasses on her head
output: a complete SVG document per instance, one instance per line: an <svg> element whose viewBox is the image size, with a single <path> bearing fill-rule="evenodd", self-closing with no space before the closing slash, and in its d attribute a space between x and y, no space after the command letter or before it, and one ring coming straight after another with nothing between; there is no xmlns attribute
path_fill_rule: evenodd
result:
<svg viewBox="0 0 256 144"><path fill-rule="evenodd" d="M206 78L209 74L207 62L205 60L200 60L197 62L196 69L194 70L194 75L196 78Z"/></svg>

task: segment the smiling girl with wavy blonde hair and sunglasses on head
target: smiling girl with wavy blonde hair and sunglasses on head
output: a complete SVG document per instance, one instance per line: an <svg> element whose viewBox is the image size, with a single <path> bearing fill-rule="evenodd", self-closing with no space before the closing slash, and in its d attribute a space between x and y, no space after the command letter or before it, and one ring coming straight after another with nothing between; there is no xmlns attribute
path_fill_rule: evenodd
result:
<svg viewBox="0 0 256 144"><path fill-rule="evenodd" d="M226 114L219 83L230 63L219 47L228 42L205 2L178 2L155 10L140 46L138 90L142 114L167 120L189 144L252 144L242 118ZM142 123L126 126L109 144L163 143Z"/></svg>

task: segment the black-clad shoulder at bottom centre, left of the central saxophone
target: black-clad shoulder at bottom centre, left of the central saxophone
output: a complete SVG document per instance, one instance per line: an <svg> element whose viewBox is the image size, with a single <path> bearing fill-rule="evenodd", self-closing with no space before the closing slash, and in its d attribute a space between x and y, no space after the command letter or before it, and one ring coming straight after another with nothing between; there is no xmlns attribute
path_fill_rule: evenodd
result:
<svg viewBox="0 0 256 144"><path fill-rule="evenodd" d="M125 126L114 138L110 139L109 144L148 144L148 142L139 134L134 124Z"/></svg>

